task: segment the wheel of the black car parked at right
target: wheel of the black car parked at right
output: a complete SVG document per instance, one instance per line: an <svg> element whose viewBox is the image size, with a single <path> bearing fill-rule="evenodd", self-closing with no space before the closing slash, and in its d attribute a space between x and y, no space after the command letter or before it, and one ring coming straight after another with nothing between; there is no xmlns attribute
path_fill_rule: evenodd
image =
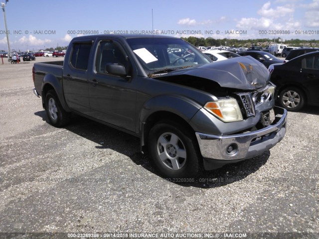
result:
<svg viewBox="0 0 319 239"><path fill-rule="evenodd" d="M287 87L279 94L279 104L287 111L300 111L305 105L305 94L296 87Z"/></svg>

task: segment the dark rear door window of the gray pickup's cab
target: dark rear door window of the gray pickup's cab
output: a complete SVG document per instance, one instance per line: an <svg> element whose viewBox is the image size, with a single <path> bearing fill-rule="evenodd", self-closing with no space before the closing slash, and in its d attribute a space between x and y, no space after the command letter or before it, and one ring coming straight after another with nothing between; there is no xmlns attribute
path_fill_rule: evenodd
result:
<svg viewBox="0 0 319 239"><path fill-rule="evenodd" d="M71 65L79 70L87 70L92 43L74 43L71 55Z"/></svg>

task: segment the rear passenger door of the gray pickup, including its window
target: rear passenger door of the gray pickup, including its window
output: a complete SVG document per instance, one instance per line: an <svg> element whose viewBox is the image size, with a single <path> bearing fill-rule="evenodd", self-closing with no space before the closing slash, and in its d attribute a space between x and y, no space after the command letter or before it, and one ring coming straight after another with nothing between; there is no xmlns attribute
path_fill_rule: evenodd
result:
<svg viewBox="0 0 319 239"><path fill-rule="evenodd" d="M88 64L92 40L74 42L68 67L63 69L63 90L67 105L73 111L90 115Z"/></svg>

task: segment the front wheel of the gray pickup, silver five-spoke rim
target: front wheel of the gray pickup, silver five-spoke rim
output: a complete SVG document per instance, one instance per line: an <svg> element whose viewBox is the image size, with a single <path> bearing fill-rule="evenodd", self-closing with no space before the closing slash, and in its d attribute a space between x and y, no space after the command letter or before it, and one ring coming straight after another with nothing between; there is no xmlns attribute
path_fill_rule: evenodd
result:
<svg viewBox="0 0 319 239"><path fill-rule="evenodd" d="M150 130L148 149L162 176L189 179L202 170L197 144L193 132L174 121L162 121Z"/></svg>

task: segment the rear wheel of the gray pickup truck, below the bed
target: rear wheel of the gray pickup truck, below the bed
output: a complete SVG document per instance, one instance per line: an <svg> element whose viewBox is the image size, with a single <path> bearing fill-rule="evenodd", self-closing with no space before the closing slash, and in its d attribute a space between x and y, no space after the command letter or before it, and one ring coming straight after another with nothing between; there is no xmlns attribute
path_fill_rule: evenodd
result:
<svg viewBox="0 0 319 239"><path fill-rule="evenodd" d="M61 127L70 121L71 113L62 108L54 90L49 90L45 95L45 111L53 126Z"/></svg>

